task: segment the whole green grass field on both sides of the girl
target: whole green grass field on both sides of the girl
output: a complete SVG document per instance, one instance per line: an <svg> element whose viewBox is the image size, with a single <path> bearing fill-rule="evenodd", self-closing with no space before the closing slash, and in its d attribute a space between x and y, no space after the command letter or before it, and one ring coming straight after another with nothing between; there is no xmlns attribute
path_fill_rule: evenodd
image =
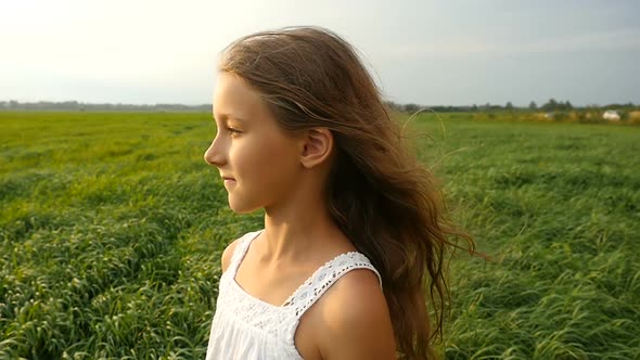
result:
<svg viewBox="0 0 640 360"><path fill-rule="evenodd" d="M490 262L452 262L447 359L640 359L640 127L410 123ZM0 359L204 358L225 245L261 228L209 114L0 113Z"/></svg>

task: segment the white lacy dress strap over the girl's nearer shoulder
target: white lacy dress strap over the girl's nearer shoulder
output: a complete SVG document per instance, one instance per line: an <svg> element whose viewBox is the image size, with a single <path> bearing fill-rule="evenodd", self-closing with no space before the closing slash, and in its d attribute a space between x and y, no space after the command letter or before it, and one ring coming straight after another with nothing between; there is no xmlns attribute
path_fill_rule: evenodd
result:
<svg viewBox="0 0 640 360"><path fill-rule="evenodd" d="M382 287L382 278L371 261L361 253L341 254L320 267L304 284L293 293L283 306L292 307L299 319L318 299L345 273L355 269L369 269L377 275Z"/></svg>

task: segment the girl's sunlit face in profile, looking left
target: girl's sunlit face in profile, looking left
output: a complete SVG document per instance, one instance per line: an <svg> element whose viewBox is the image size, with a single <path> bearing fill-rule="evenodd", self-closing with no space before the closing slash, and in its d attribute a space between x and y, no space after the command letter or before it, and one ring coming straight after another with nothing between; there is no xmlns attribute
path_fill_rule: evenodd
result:
<svg viewBox="0 0 640 360"><path fill-rule="evenodd" d="M231 209L251 213L284 201L303 169L300 142L286 136L259 94L232 74L219 73L214 117L218 131L204 158L225 179Z"/></svg>

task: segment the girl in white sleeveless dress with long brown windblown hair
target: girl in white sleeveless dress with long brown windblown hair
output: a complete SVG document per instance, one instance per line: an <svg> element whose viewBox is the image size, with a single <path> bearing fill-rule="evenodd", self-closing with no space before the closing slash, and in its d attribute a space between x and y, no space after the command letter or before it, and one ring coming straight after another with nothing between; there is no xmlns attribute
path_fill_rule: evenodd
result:
<svg viewBox="0 0 640 360"><path fill-rule="evenodd" d="M207 359L426 359L448 298L449 220L357 52L319 27L243 37L214 94L217 167L265 228L222 254ZM428 316L435 310L434 323Z"/></svg>

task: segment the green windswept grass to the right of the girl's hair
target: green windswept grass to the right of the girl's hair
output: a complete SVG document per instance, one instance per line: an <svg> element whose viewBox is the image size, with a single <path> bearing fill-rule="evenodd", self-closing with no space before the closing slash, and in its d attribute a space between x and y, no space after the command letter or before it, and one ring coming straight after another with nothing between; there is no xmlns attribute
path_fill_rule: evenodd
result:
<svg viewBox="0 0 640 360"><path fill-rule="evenodd" d="M419 149L494 256L452 265L446 357L640 359L640 129L445 121Z"/></svg>

